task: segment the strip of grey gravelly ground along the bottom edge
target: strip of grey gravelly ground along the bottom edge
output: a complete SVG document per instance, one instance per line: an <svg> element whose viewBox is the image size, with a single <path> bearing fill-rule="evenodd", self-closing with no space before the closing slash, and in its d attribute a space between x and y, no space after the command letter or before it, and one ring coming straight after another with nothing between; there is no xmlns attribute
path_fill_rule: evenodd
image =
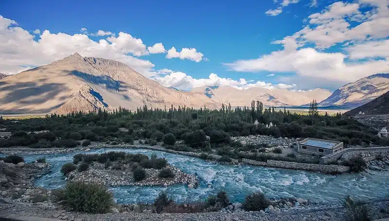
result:
<svg viewBox="0 0 389 221"><path fill-rule="evenodd" d="M389 202L371 203L374 219L388 217ZM300 207L268 213L260 212L212 212L192 214L170 213L106 213L85 214L67 212L59 209L47 209L38 205L0 203L1 214L18 214L25 216L56 218L70 221L345 221L345 209L338 205L319 207Z"/></svg>

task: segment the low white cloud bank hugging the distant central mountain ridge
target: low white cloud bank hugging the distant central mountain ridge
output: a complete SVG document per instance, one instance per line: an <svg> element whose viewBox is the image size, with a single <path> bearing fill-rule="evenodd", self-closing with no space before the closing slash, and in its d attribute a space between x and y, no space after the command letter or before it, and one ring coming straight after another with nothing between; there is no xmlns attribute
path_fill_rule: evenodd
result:
<svg viewBox="0 0 389 221"><path fill-rule="evenodd" d="M257 81L256 83L253 84L248 84L249 82L253 82L253 80L247 81L244 78L241 78L239 80L233 80L231 78L222 78L215 73L211 73L208 78L196 79L180 71L165 70L161 72L165 72L165 74L155 76L153 77L153 80L159 82L159 84L163 86L175 87L181 90L187 90L195 87L211 86L211 85L231 86L240 90L249 89L253 87L265 88L269 90L276 89L276 88L290 89L296 86L296 85L285 85L285 84L272 85L271 83L265 83L261 81Z"/></svg>

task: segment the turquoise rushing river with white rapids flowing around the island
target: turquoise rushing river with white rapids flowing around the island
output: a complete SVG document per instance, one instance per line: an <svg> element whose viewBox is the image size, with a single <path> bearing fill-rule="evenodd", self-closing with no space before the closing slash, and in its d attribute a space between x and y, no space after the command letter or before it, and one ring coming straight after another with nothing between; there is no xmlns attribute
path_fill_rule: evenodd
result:
<svg viewBox="0 0 389 221"><path fill-rule="evenodd" d="M156 153L186 173L197 174L200 185L188 189L183 185L170 187L111 187L118 203L152 202L158 193L166 190L176 202L204 200L208 195L225 190L232 202L243 202L245 195L253 191L263 191L269 198L301 197L319 203L338 203L346 195L355 198L384 198L389 193L389 172L375 172L374 175L362 172L355 174L326 175L301 170L256 167L248 165L222 165L202 159L152 151L145 149L115 149L127 153ZM80 153L80 152L78 152ZM82 152L81 152L82 153ZM87 153L104 153L104 149ZM26 162L45 157L53 168L51 173L36 179L35 185L45 188L58 188L65 185L64 176L59 171L65 163L72 162L73 155L25 155Z"/></svg>

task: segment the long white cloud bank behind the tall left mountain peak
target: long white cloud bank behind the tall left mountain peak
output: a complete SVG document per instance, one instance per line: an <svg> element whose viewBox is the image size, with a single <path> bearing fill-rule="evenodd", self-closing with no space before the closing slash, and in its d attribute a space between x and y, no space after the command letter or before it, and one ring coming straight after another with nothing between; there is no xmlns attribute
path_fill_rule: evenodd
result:
<svg viewBox="0 0 389 221"><path fill-rule="evenodd" d="M75 52L82 56L104 57L127 64L141 74L150 74L154 65L147 60L141 60L135 55L144 54L145 46L140 39L122 33L117 38L107 40L91 40L86 34L52 34L48 30L42 32L40 39L28 31L16 26L13 20L0 16L0 72L16 74L26 67L36 67L51 63L69 56ZM83 29L87 32L86 29ZM111 42L111 43L110 43Z"/></svg>

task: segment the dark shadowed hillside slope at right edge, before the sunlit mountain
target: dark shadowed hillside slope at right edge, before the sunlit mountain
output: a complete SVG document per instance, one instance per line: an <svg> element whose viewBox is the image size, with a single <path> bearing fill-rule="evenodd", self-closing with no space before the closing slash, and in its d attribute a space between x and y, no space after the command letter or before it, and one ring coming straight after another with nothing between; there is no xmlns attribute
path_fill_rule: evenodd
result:
<svg viewBox="0 0 389 221"><path fill-rule="evenodd" d="M354 116L359 112L366 115L389 114L389 91L371 102L346 112L345 115Z"/></svg>

